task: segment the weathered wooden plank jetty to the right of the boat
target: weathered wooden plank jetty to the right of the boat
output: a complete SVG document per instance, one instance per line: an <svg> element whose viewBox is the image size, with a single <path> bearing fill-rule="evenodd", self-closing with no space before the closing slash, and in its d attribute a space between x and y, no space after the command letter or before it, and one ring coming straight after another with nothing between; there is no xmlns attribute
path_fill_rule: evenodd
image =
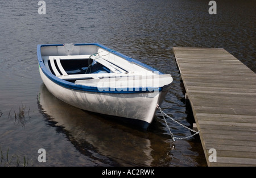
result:
<svg viewBox="0 0 256 178"><path fill-rule="evenodd" d="M256 166L256 74L222 48L173 51L208 166Z"/></svg>

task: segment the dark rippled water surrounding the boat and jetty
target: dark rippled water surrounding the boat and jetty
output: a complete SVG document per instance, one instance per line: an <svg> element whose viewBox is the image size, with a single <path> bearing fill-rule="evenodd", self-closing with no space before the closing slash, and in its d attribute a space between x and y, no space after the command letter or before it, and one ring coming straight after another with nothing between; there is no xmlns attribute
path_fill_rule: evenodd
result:
<svg viewBox="0 0 256 178"><path fill-rule="evenodd" d="M199 0L45 2L42 15L38 1L0 2L0 165L206 166L200 139L172 142L160 113L141 131L57 100L42 84L36 45L97 42L172 74L162 108L191 127L172 47L224 48L256 72L256 3L217 1L209 15ZM175 136L191 134L168 124Z"/></svg>

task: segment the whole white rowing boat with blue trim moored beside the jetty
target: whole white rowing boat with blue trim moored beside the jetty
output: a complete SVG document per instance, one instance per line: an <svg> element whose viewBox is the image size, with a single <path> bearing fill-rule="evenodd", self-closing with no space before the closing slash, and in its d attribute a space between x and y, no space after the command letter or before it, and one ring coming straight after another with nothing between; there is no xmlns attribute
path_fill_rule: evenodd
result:
<svg viewBox="0 0 256 178"><path fill-rule="evenodd" d="M39 44L37 53L40 76L55 97L144 129L172 82L170 74L98 43Z"/></svg>

